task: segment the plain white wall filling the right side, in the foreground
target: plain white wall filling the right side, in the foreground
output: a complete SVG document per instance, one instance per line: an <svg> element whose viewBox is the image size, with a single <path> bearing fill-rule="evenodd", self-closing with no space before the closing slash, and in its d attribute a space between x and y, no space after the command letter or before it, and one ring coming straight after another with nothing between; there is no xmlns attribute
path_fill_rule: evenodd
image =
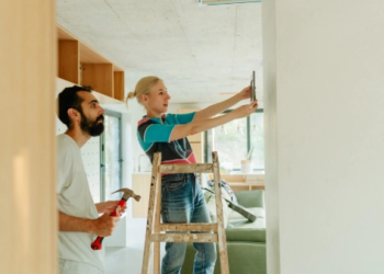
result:
<svg viewBox="0 0 384 274"><path fill-rule="evenodd" d="M383 10L263 2L269 274L384 273Z"/></svg>

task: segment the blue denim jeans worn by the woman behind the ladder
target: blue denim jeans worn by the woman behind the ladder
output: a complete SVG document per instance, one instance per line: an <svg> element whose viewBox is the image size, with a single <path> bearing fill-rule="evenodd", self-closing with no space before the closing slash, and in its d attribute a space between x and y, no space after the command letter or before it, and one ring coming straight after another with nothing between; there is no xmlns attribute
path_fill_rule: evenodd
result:
<svg viewBox="0 0 384 274"><path fill-rule="evenodd" d="M203 192L194 174L169 174L161 178L162 222L211 222ZM215 243L194 242L194 274L212 274L216 262ZM167 242L161 274L179 274L187 242Z"/></svg>

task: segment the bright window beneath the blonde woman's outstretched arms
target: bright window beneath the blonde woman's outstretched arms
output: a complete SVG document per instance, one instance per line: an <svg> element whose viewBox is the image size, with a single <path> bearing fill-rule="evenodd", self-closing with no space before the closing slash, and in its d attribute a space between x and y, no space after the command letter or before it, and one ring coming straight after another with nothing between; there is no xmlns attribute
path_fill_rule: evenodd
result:
<svg viewBox="0 0 384 274"><path fill-rule="evenodd" d="M230 111L226 111L228 113ZM222 115L222 114L221 114ZM251 147L253 170L264 170L263 112L257 110L249 117L231 121L205 132L205 161L211 162L211 151L218 152L221 169L238 171L241 160Z"/></svg>

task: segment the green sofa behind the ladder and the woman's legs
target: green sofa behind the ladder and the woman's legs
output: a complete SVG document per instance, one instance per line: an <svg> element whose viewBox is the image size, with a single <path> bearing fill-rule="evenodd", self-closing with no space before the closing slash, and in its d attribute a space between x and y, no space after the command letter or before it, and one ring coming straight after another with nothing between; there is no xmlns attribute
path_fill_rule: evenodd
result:
<svg viewBox="0 0 384 274"><path fill-rule="evenodd" d="M229 214L226 228L229 273L267 274L264 191L235 192L235 195L240 205L256 214L257 219L250 222L236 212ZM181 274L193 273L194 254L195 250L189 243ZM217 258L214 274L219 273Z"/></svg>

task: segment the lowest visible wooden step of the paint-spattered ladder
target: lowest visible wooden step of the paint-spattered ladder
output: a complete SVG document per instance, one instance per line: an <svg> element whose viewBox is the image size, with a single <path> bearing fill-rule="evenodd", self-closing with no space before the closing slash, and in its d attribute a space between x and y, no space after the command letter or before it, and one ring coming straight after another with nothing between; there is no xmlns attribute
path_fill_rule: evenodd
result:
<svg viewBox="0 0 384 274"><path fill-rule="evenodd" d="M214 233L153 233L150 241L158 242L218 242Z"/></svg>

